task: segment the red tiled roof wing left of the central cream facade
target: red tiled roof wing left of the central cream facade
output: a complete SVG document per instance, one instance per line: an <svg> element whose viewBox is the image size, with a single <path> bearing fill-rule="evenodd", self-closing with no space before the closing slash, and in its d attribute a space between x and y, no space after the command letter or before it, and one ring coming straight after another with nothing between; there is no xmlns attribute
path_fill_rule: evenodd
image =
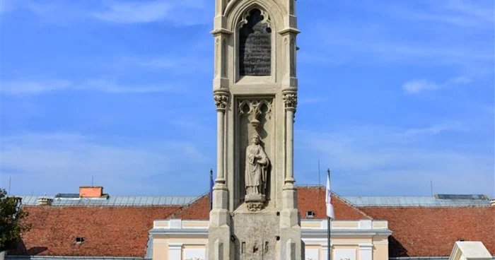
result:
<svg viewBox="0 0 495 260"><path fill-rule="evenodd" d="M146 255L153 220L168 218L180 206L56 207L23 206L33 224L9 254L50 256ZM84 242L75 243L76 237Z"/></svg>

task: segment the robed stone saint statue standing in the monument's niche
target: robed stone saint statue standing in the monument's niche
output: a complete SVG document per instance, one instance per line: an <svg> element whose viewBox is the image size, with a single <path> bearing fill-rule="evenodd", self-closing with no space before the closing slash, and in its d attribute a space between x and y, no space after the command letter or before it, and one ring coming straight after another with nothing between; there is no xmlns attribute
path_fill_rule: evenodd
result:
<svg viewBox="0 0 495 260"><path fill-rule="evenodd" d="M246 148L246 195L264 195L267 188L267 167L269 160L260 145L260 136L253 134L251 141L252 143Z"/></svg>

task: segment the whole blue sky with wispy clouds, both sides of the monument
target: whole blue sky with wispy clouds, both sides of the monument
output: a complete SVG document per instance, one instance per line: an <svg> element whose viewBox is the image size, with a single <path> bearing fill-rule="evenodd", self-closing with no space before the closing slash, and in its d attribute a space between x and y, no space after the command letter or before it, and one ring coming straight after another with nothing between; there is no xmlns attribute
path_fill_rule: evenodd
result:
<svg viewBox="0 0 495 260"><path fill-rule="evenodd" d="M206 192L213 2L2 0L0 187ZM298 184L320 160L342 195L495 196L494 1L296 11Z"/></svg>

